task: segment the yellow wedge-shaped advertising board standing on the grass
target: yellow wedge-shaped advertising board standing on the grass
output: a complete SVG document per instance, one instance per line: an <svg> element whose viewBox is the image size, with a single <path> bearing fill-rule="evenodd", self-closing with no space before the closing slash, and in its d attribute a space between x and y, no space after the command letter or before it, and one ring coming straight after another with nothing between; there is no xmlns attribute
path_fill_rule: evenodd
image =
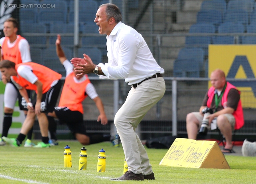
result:
<svg viewBox="0 0 256 184"><path fill-rule="evenodd" d="M160 165L230 169L216 141L176 138Z"/></svg>

